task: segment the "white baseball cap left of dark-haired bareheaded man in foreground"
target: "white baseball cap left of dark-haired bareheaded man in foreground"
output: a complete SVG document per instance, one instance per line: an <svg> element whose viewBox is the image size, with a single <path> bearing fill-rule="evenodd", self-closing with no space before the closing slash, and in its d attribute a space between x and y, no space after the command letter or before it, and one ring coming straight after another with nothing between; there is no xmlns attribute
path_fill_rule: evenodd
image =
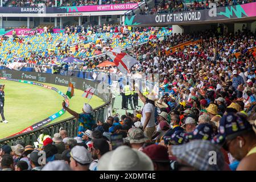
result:
<svg viewBox="0 0 256 182"><path fill-rule="evenodd" d="M80 164L90 164L92 162L92 155L85 147L75 146L70 152L71 157Z"/></svg>

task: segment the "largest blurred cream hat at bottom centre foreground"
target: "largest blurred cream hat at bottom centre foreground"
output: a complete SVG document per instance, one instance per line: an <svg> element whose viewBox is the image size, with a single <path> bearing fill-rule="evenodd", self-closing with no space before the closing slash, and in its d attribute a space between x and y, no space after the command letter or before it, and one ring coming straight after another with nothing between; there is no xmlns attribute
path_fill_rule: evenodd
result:
<svg viewBox="0 0 256 182"><path fill-rule="evenodd" d="M153 171L152 160L143 152L120 146L104 154L98 161L98 171Z"/></svg>

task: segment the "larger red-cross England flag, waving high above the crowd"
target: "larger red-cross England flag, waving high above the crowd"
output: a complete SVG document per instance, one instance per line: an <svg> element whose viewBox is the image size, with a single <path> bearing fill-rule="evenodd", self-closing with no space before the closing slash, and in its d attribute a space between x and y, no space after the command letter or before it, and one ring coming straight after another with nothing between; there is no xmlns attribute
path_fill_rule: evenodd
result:
<svg viewBox="0 0 256 182"><path fill-rule="evenodd" d="M107 51L107 55L114 61L117 68L123 74L127 74L129 72L129 69L134 64L138 63L138 61L134 57L128 55L125 52L121 52L120 48L109 49L109 51Z"/></svg>

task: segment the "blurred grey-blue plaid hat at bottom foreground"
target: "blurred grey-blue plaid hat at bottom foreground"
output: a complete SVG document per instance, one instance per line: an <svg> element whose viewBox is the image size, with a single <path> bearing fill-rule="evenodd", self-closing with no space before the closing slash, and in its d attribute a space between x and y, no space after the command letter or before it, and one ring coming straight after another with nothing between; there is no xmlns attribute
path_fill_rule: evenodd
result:
<svg viewBox="0 0 256 182"><path fill-rule="evenodd" d="M222 171L225 165L224 155L220 147L208 140L192 140L191 142L175 145L171 148L172 154L177 158L185 161L200 171ZM209 163L212 155L211 151L216 154L216 164Z"/></svg>

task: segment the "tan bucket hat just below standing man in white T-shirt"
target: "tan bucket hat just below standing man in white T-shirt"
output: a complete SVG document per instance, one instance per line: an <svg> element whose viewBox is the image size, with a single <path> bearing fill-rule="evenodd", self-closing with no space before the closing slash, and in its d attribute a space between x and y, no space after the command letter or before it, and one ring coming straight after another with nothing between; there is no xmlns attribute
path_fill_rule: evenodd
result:
<svg viewBox="0 0 256 182"><path fill-rule="evenodd" d="M131 128L128 133L126 140L129 140L130 143L143 143L148 140L148 138L144 135L141 129Z"/></svg>

